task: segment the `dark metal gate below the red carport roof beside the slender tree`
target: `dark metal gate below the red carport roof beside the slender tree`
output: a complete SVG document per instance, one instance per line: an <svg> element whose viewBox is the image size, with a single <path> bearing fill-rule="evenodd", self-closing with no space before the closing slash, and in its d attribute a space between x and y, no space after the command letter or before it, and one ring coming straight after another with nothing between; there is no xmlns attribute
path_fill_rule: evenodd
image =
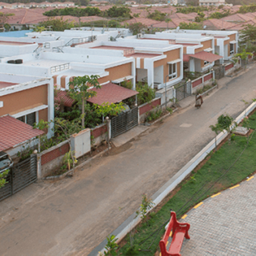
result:
<svg viewBox="0 0 256 256"><path fill-rule="evenodd" d="M111 137L117 137L117 135L125 133L125 131L128 131L136 125L138 125L137 107L111 119Z"/></svg>

